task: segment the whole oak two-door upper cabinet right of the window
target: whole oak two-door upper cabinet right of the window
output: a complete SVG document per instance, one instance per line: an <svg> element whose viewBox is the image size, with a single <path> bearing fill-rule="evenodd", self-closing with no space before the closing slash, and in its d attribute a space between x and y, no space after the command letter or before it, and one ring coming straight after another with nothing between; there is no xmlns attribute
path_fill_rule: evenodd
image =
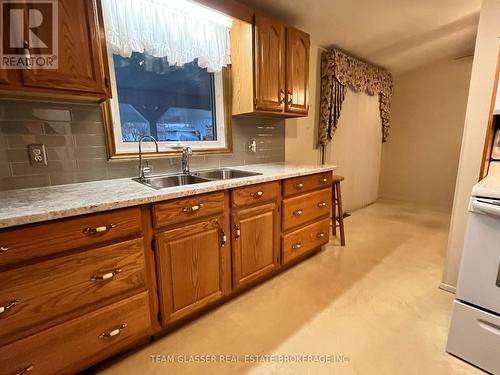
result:
<svg viewBox="0 0 500 375"><path fill-rule="evenodd" d="M307 116L309 35L261 13L230 35L233 115Z"/></svg>

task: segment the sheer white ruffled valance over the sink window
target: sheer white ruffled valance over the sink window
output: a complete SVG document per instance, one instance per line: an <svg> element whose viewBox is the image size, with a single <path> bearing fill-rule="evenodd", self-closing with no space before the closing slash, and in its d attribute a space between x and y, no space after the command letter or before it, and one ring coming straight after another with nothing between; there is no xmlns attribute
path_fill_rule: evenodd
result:
<svg viewBox="0 0 500 375"><path fill-rule="evenodd" d="M198 59L218 72L231 63L231 18L189 0L103 0L106 41L113 54L165 57L171 65Z"/></svg>

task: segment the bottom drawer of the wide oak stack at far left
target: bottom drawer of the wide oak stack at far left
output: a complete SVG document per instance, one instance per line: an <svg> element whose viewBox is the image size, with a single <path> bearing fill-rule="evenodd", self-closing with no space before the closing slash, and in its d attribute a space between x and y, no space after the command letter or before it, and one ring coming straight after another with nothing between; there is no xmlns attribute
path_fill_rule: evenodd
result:
<svg viewBox="0 0 500 375"><path fill-rule="evenodd" d="M76 373L149 335L150 323L143 292L1 347L0 374Z"/></svg>

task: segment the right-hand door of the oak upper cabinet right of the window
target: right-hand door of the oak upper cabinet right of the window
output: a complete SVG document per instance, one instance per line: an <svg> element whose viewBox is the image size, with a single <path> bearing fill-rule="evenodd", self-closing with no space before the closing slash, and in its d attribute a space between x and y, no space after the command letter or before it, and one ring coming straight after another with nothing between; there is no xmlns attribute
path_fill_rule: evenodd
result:
<svg viewBox="0 0 500 375"><path fill-rule="evenodd" d="M309 34L293 27L286 29L286 112L308 112L309 49Z"/></svg>

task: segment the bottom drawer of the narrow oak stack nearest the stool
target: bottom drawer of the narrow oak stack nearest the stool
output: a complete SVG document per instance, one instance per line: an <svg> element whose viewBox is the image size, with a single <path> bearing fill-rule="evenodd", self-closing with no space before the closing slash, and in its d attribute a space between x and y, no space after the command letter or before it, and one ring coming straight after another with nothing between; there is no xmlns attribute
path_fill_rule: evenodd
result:
<svg viewBox="0 0 500 375"><path fill-rule="evenodd" d="M328 243L329 234L330 219L323 219L283 236L283 264Z"/></svg>

